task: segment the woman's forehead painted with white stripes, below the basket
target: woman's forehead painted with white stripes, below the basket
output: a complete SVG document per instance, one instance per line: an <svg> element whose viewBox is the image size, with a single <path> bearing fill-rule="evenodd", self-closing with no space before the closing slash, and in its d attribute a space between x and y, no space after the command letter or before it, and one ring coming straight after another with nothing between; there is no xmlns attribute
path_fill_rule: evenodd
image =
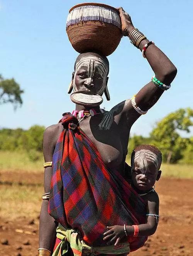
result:
<svg viewBox="0 0 193 256"><path fill-rule="evenodd" d="M76 71L83 66L87 67L88 71L90 69L92 69L93 71L97 69L98 72L102 73L103 75L105 76L108 75L108 71L109 71L108 64L105 62L105 60L97 56L90 55L90 56L82 57L80 60L76 62L76 66L75 66Z"/></svg>

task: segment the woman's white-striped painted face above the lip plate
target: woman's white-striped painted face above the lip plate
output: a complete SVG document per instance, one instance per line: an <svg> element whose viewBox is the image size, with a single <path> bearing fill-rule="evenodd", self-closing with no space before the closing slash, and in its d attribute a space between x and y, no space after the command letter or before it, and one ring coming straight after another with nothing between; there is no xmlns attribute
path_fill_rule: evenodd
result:
<svg viewBox="0 0 193 256"><path fill-rule="evenodd" d="M76 63L73 91L87 90L102 95L107 81L108 65L102 58L91 55Z"/></svg>

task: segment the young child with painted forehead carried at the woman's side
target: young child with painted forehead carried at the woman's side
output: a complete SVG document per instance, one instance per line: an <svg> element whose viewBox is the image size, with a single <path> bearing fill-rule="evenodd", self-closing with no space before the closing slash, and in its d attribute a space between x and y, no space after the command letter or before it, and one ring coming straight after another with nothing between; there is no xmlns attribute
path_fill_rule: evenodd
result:
<svg viewBox="0 0 193 256"><path fill-rule="evenodd" d="M131 186L147 203L146 224L107 227L104 240L115 243L126 236L149 236L156 232L159 220L159 197L154 190L156 180L161 176L159 170L162 154L158 148L144 144L137 146L131 155Z"/></svg>

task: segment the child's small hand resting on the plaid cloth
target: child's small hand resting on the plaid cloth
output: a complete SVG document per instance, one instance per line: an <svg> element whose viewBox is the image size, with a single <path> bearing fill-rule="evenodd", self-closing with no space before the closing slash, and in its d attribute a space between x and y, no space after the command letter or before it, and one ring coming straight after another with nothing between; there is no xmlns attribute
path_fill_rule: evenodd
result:
<svg viewBox="0 0 193 256"><path fill-rule="evenodd" d="M115 246L119 243L119 241L122 239L122 237L125 236L124 233L124 226L111 226L107 227L109 229L107 232L105 232L103 235L105 236L103 240L108 240L107 244L112 244L115 242Z"/></svg>

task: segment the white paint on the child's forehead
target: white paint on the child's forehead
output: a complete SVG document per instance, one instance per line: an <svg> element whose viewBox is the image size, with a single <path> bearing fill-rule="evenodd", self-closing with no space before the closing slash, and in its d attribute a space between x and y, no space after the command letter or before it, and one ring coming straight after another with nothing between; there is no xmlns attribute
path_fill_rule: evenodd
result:
<svg viewBox="0 0 193 256"><path fill-rule="evenodd" d="M148 149L141 149L132 158L132 171L134 171L134 163L137 163L141 173L145 174L149 170L149 163L147 161L152 162L157 170L161 165L161 158L159 156Z"/></svg>

